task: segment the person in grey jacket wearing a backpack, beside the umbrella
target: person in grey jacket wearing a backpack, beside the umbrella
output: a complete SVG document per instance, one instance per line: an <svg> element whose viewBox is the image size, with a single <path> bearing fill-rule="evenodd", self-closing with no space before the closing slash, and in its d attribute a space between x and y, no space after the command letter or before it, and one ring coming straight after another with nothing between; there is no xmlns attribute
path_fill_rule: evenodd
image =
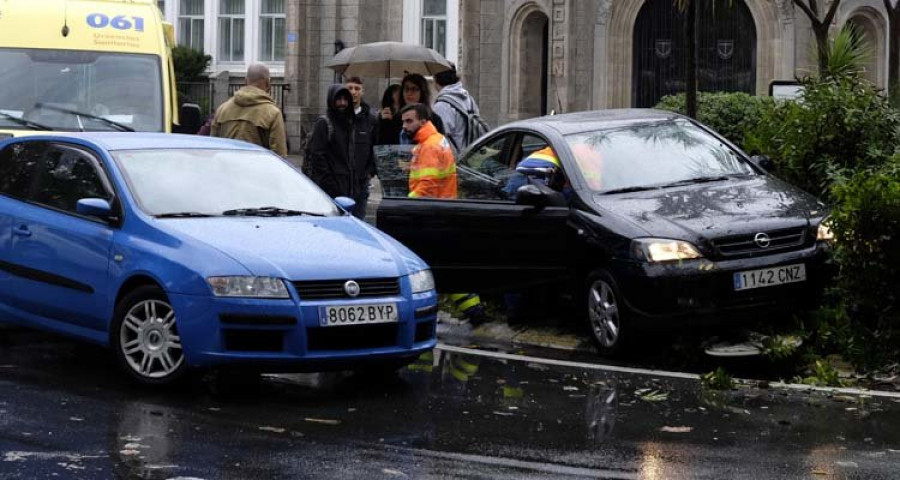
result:
<svg viewBox="0 0 900 480"><path fill-rule="evenodd" d="M462 152L472 142L490 130L481 119L478 104L463 88L456 66L436 73L434 83L440 87L434 102L434 112L443 120L447 139L457 152Z"/></svg>

